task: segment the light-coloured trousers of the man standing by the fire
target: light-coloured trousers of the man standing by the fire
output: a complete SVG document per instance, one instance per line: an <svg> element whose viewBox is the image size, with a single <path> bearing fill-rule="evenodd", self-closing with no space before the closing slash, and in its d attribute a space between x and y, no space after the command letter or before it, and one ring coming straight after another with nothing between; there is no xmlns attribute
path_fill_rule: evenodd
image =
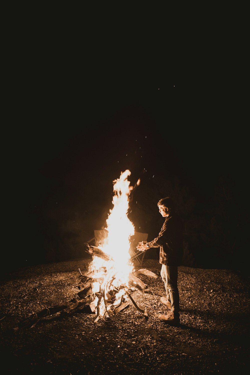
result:
<svg viewBox="0 0 250 375"><path fill-rule="evenodd" d="M178 267L162 264L160 275L165 285L167 299L171 302L172 311L178 313L180 311L180 296L177 285Z"/></svg>

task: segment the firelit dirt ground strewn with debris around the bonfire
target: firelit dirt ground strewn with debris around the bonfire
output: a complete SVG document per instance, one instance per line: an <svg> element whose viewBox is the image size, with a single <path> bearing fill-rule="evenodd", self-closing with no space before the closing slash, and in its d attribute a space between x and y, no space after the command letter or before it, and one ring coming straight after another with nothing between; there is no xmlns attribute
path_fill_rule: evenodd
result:
<svg viewBox="0 0 250 375"><path fill-rule="evenodd" d="M78 293L79 270L90 260L25 267L0 285L0 349L4 374L248 374L249 277L239 271L179 267L181 324L172 327L158 315L164 285L160 264L147 259L135 268L154 294L134 292L145 317L130 305L107 321L96 313L60 312L34 327L13 332L20 321Z"/></svg>

